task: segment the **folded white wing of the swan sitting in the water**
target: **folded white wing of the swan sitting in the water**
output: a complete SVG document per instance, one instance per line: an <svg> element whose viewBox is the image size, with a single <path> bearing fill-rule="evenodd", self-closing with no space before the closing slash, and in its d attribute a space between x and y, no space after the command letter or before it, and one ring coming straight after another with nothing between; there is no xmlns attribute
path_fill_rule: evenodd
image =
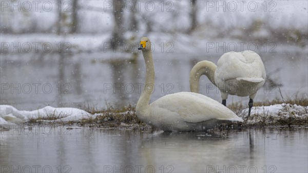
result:
<svg viewBox="0 0 308 173"><path fill-rule="evenodd" d="M176 116L187 123L198 123L211 119L243 121L232 110L206 97L193 92L178 92L165 95L152 104L153 117L161 114ZM170 117L171 118L171 117Z"/></svg>

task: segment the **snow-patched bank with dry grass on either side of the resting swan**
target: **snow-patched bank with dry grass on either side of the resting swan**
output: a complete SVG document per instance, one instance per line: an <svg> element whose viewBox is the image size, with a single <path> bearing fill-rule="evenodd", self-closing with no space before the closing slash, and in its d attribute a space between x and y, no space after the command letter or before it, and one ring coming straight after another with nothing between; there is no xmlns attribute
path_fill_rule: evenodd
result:
<svg viewBox="0 0 308 173"><path fill-rule="evenodd" d="M248 109L242 110L239 115L244 120L248 116ZM121 125L136 124L139 119L134 110L125 112L104 112L91 114L77 108L53 108L46 106L33 111L17 110L13 106L0 105L0 125L14 125L26 123L29 120L43 120L45 122L78 122L89 120L86 123L108 124L112 120L121 122ZM137 121L138 119L138 121ZM277 104L271 106L256 106L252 108L252 115L248 124L307 124L308 106L291 104ZM138 123L137 123L138 124Z"/></svg>

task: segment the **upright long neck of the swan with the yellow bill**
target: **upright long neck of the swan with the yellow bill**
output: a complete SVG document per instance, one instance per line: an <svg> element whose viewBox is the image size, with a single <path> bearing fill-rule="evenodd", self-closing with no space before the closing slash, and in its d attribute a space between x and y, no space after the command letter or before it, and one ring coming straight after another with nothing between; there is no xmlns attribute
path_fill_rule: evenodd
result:
<svg viewBox="0 0 308 173"><path fill-rule="evenodd" d="M144 89L141 93L141 96L136 105L136 111L140 112L139 116L146 116L145 111L149 106L149 101L151 98L151 93L153 92L154 88L154 66L152 60L152 53L148 50L142 50L142 54L145 61L146 66L146 75L145 75L145 84Z"/></svg>

